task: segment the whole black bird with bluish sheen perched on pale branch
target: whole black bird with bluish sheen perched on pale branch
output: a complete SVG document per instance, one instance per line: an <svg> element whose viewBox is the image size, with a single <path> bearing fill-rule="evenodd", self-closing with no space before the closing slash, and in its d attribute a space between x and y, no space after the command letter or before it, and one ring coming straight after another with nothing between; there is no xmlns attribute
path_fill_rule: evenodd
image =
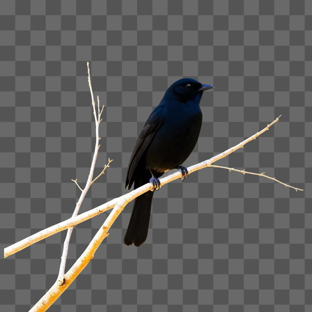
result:
<svg viewBox="0 0 312 312"><path fill-rule="evenodd" d="M199 102L211 85L183 78L174 82L147 119L132 151L126 178L126 188L134 189L150 182L159 189L158 180L166 171L178 169L183 180L188 171L180 166L193 151L202 125ZM147 237L153 192L134 201L124 236L124 243L140 246Z"/></svg>

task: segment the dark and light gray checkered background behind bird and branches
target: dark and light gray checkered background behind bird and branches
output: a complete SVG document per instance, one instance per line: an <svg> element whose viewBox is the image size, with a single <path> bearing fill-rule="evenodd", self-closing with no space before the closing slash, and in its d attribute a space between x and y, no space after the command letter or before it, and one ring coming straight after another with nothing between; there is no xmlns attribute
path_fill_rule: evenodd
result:
<svg viewBox="0 0 312 312"><path fill-rule="evenodd" d="M71 178L83 186L95 143L86 61L106 106L95 173L114 162L82 212L125 193L137 135L182 76L215 86L185 166L282 114L218 164L305 189L221 169L170 183L146 243L122 242L129 204L51 311L312 309L311 1L1 0L0 14L1 249L71 216ZM77 226L68 267L105 217ZM27 311L50 288L65 235L1 260L1 310Z"/></svg>

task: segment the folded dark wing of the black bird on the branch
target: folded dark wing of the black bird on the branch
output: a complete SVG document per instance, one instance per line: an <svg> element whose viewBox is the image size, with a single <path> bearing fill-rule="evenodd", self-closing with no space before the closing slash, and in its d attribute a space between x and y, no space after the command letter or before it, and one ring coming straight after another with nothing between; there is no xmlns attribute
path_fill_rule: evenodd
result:
<svg viewBox="0 0 312 312"><path fill-rule="evenodd" d="M165 113L165 107L162 105L158 105L149 115L149 118L146 120L144 127L136 141L130 160L128 165L127 171L127 178L126 178L126 188L130 188L133 183L133 173L134 170L139 162L140 157L142 156L143 152L149 146L149 143L153 139L157 129L163 122L163 117Z"/></svg>

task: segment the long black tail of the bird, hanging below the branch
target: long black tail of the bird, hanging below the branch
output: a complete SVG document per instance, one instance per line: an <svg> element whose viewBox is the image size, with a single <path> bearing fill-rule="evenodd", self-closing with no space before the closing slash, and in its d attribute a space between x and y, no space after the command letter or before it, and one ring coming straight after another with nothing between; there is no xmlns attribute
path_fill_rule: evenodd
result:
<svg viewBox="0 0 312 312"><path fill-rule="evenodd" d="M145 183L141 184L134 182L134 189ZM149 230L149 218L151 215L153 194L154 192L148 191L135 198L128 229L124 236L124 243L126 245L129 246L134 243L134 245L138 247L146 240L147 232Z"/></svg>

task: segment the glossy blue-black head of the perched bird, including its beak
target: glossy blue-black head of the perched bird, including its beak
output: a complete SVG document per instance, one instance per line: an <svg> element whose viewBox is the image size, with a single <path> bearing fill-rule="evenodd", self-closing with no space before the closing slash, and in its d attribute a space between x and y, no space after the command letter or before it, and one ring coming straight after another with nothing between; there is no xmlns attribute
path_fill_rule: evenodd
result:
<svg viewBox="0 0 312 312"><path fill-rule="evenodd" d="M199 99L205 90L213 89L212 85L203 85L195 79L183 78L174 82L166 91L171 97L176 97L182 101Z"/></svg>

